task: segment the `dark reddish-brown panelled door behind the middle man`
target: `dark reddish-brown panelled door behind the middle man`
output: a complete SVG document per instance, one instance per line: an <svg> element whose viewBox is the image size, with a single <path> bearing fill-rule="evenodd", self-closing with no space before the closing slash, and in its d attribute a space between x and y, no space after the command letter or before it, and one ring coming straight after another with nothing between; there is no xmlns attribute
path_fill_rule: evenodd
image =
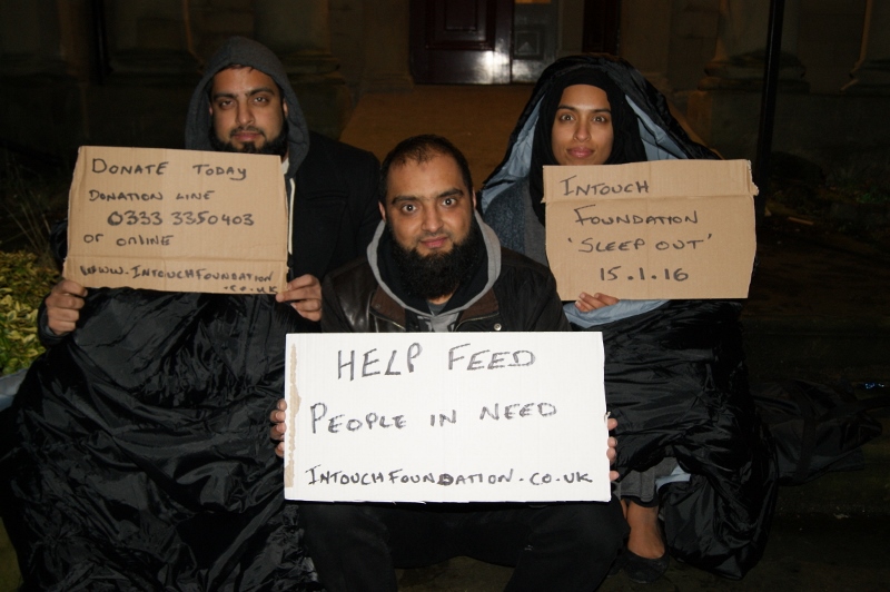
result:
<svg viewBox="0 0 890 592"><path fill-rule="evenodd" d="M506 85L513 0L411 0L411 73L418 83Z"/></svg>

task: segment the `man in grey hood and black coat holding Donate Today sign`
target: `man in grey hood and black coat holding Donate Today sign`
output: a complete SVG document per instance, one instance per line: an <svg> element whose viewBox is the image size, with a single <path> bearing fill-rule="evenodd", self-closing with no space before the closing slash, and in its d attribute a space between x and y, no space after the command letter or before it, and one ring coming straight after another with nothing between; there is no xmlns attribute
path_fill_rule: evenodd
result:
<svg viewBox="0 0 890 592"><path fill-rule="evenodd" d="M370 152L309 131L280 60L267 47L231 37L210 58L189 103L186 148L281 157L288 196L288 302L322 315L319 278L358 257L380 219L378 162ZM75 329L87 289L65 279L44 300L40 338Z"/></svg>

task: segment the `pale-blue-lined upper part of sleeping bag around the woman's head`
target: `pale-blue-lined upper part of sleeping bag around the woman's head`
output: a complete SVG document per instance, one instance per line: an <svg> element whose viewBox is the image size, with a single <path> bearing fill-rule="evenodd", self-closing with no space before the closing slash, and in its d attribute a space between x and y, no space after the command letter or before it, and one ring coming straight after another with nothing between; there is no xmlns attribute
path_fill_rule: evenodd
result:
<svg viewBox="0 0 890 592"><path fill-rule="evenodd" d="M595 86L609 97L615 141L606 165L719 158L689 137L664 96L623 59L592 53L556 60L538 78L510 136L507 154L483 182L478 199L485 221L504 246L545 265L543 167L556 164L550 131L562 92L572 85ZM565 310L572 323L587 327L642 314L664 302L622 299L590 313L580 313L570 303Z"/></svg>

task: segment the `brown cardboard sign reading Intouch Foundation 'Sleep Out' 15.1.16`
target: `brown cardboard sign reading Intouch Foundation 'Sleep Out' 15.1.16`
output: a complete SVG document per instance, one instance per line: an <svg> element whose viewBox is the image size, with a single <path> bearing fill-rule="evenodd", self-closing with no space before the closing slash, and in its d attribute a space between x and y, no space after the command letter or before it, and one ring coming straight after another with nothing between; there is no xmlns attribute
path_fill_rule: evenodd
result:
<svg viewBox="0 0 890 592"><path fill-rule="evenodd" d="M746 298L755 194L746 160L544 167L560 297Z"/></svg>

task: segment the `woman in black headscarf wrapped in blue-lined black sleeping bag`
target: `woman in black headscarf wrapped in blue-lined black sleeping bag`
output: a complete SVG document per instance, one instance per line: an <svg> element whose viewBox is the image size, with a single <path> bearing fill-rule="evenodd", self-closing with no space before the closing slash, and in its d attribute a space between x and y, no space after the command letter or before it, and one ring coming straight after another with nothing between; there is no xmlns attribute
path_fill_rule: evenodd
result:
<svg viewBox="0 0 890 592"><path fill-rule="evenodd" d="M545 165L676 158L718 157L689 138L664 97L625 61L564 58L535 86L479 204L504 246L546 264ZM775 475L748 393L739 310L728 300L599 293L565 304L575 328L603 333L606 404L619 418L616 494L631 525L623 566L636 581L666 570L665 546L730 578L762 554ZM656 482L672 483L656 491Z"/></svg>

